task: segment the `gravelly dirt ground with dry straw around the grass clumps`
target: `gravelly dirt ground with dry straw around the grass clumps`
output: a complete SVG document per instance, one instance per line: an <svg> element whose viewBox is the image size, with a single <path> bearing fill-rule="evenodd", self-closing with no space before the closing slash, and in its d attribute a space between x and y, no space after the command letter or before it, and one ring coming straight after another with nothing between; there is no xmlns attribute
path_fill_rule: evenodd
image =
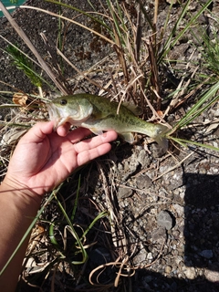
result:
<svg viewBox="0 0 219 292"><path fill-rule="evenodd" d="M135 6L134 1L129 3L133 7ZM42 1L33 0L27 4L42 6L57 12L57 6ZM99 1L92 1L92 4L99 5ZM87 1L79 2L77 0L74 5L79 5L80 9L85 11L90 10ZM153 7L151 1L145 1L145 5L151 9ZM197 11L199 5L196 1L191 3L191 15ZM161 1L158 22L161 26L166 19L169 6L168 3ZM210 9L216 13L218 7L218 1L213 1ZM180 5L174 5L168 24L170 29L179 16L179 12ZM185 16L184 23L190 19L191 15ZM55 42L57 19L27 9L17 10L15 18L40 54L47 58L47 48L39 34L44 32L49 39ZM82 17L81 21L86 22L87 20ZM200 26L208 29L212 19L203 15L199 17L198 21ZM20 43L13 28L4 18L0 20L0 23L1 35L13 43ZM90 26L93 25L90 24ZM213 24L211 25L213 26ZM198 30L195 29L197 28L194 27L193 34L199 37ZM78 26L71 25L67 27L67 30L68 37L64 49L66 56L77 68L83 70L91 68L99 62L99 73L93 73L90 76L101 85L106 84L110 78L110 73L105 71L106 64L110 68L114 63L112 48ZM28 79L11 65L4 52L6 46L5 41L0 39L0 47L3 49L0 51L0 80L12 85L15 89L34 92L36 89ZM195 42L193 35L188 33L170 53L170 58L180 59L184 62L175 64L174 73L167 70L168 77L163 83L163 96L167 91L177 87L183 78L182 72L186 72L186 80L191 78L195 68L194 62L199 64L197 74L202 71L202 55L199 49L194 49L194 46L198 48L199 42L197 40ZM24 45L21 47L26 50ZM65 66L65 76L71 80L72 91L99 93L99 89L90 85L83 78L78 78L76 72L68 66ZM0 83L0 90L9 89L10 87ZM45 88L45 91L47 90L50 89ZM174 122L182 117L193 104L194 98L189 99L182 108L172 111L167 117L167 121L171 123L172 120ZM0 99L1 103L8 100L4 94ZM165 108L165 102L163 102L163 107ZM2 112L2 120L5 119L7 112L12 114L9 110ZM214 104L195 120L190 128L180 130L177 134L181 138L195 139L195 141L219 147L218 127L214 127L212 130L205 126L218 118L218 104ZM126 259L123 272L128 273L125 267L130 265L129 273L133 272L133 276L120 276L119 287L111 287L109 290L106 288L101 291L219 291L218 163L219 153L216 151L195 146L176 148L170 143L169 151L162 154L155 143L150 142L147 145L145 137L138 135L138 139L133 145L123 141L114 142L112 151L108 155L83 168L78 203L78 223L85 224L88 219L89 216L86 215L86 212L90 211L89 202L91 201L93 205L99 206L97 209L100 211L113 210L118 218L118 229L113 231L114 234L112 233L117 237L118 242L116 244L109 237L113 246L111 250L110 245L103 244L103 238L98 231L90 235L91 237L97 236L97 245L89 251L89 262L85 275L88 275L94 267L104 264L106 261L112 262L120 255L120 261ZM66 183L62 191L62 195L67 198L68 203L71 203L72 196L75 194L74 182L78 182L77 178L78 174L73 176L71 186L68 187L68 183ZM75 184L75 188L77 188L77 184ZM93 214L97 209L92 209ZM45 218L51 219L56 212L56 203L51 203L45 211ZM112 232L110 224L108 227ZM115 256L116 252L117 256ZM113 283L115 271L118 272L116 267L111 270L106 269L99 281L102 284ZM85 287L71 287L72 275L68 268L64 272L64 267L62 267L58 273L56 291L84 291L82 288ZM48 277L43 290L38 287L22 287L20 291L25 291L25 289L26 291L47 291L50 282L51 279ZM38 285L40 284L38 283ZM96 288L91 287L89 291L97 291Z"/></svg>

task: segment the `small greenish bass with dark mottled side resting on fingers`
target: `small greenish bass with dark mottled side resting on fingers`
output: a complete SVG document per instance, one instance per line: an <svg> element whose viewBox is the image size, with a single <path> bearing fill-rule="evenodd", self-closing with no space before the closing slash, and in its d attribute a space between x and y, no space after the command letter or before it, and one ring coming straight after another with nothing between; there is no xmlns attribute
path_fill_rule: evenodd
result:
<svg viewBox="0 0 219 292"><path fill-rule="evenodd" d="M168 130L161 124L141 120L134 114L134 109L120 105L96 95L76 94L63 96L47 103L50 120L55 120L55 130L65 122L78 127L88 128L95 134L103 130L115 130L125 141L134 141L132 132L145 134L167 148L164 134Z"/></svg>

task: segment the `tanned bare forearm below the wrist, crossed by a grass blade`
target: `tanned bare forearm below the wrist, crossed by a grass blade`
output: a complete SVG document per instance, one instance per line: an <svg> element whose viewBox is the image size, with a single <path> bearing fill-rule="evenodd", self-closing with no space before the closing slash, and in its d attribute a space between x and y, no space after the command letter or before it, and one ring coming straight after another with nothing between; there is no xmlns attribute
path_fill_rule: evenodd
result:
<svg viewBox="0 0 219 292"><path fill-rule="evenodd" d="M6 180L0 185L0 271L25 235L36 216L40 202L41 198L31 190L16 188ZM15 291L27 243L28 238L0 276L0 291Z"/></svg>

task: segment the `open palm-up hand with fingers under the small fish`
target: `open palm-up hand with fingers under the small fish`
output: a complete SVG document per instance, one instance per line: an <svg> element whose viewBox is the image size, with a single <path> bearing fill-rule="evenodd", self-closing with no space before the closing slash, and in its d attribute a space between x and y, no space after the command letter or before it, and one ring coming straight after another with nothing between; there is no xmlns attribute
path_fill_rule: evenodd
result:
<svg viewBox="0 0 219 292"><path fill-rule="evenodd" d="M21 138L8 165L5 183L24 192L44 194L51 191L78 166L110 151L114 131L83 140L88 129L53 131L53 121L39 122Z"/></svg>

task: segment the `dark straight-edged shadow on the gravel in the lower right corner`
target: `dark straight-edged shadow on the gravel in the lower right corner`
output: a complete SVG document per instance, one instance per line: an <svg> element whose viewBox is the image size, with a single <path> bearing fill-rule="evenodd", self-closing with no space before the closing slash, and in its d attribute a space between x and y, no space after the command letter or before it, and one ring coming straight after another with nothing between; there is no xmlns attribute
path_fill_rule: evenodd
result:
<svg viewBox="0 0 219 292"><path fill-rule="evenodd" d="M214 276L179 279L171 275L138 271L134 280L135 292L141 291L219 291L219 176L184 173L186 186L184 208L184 263L185 266L203 268ZM136 283L141 283L138 285Z"/></svg>

